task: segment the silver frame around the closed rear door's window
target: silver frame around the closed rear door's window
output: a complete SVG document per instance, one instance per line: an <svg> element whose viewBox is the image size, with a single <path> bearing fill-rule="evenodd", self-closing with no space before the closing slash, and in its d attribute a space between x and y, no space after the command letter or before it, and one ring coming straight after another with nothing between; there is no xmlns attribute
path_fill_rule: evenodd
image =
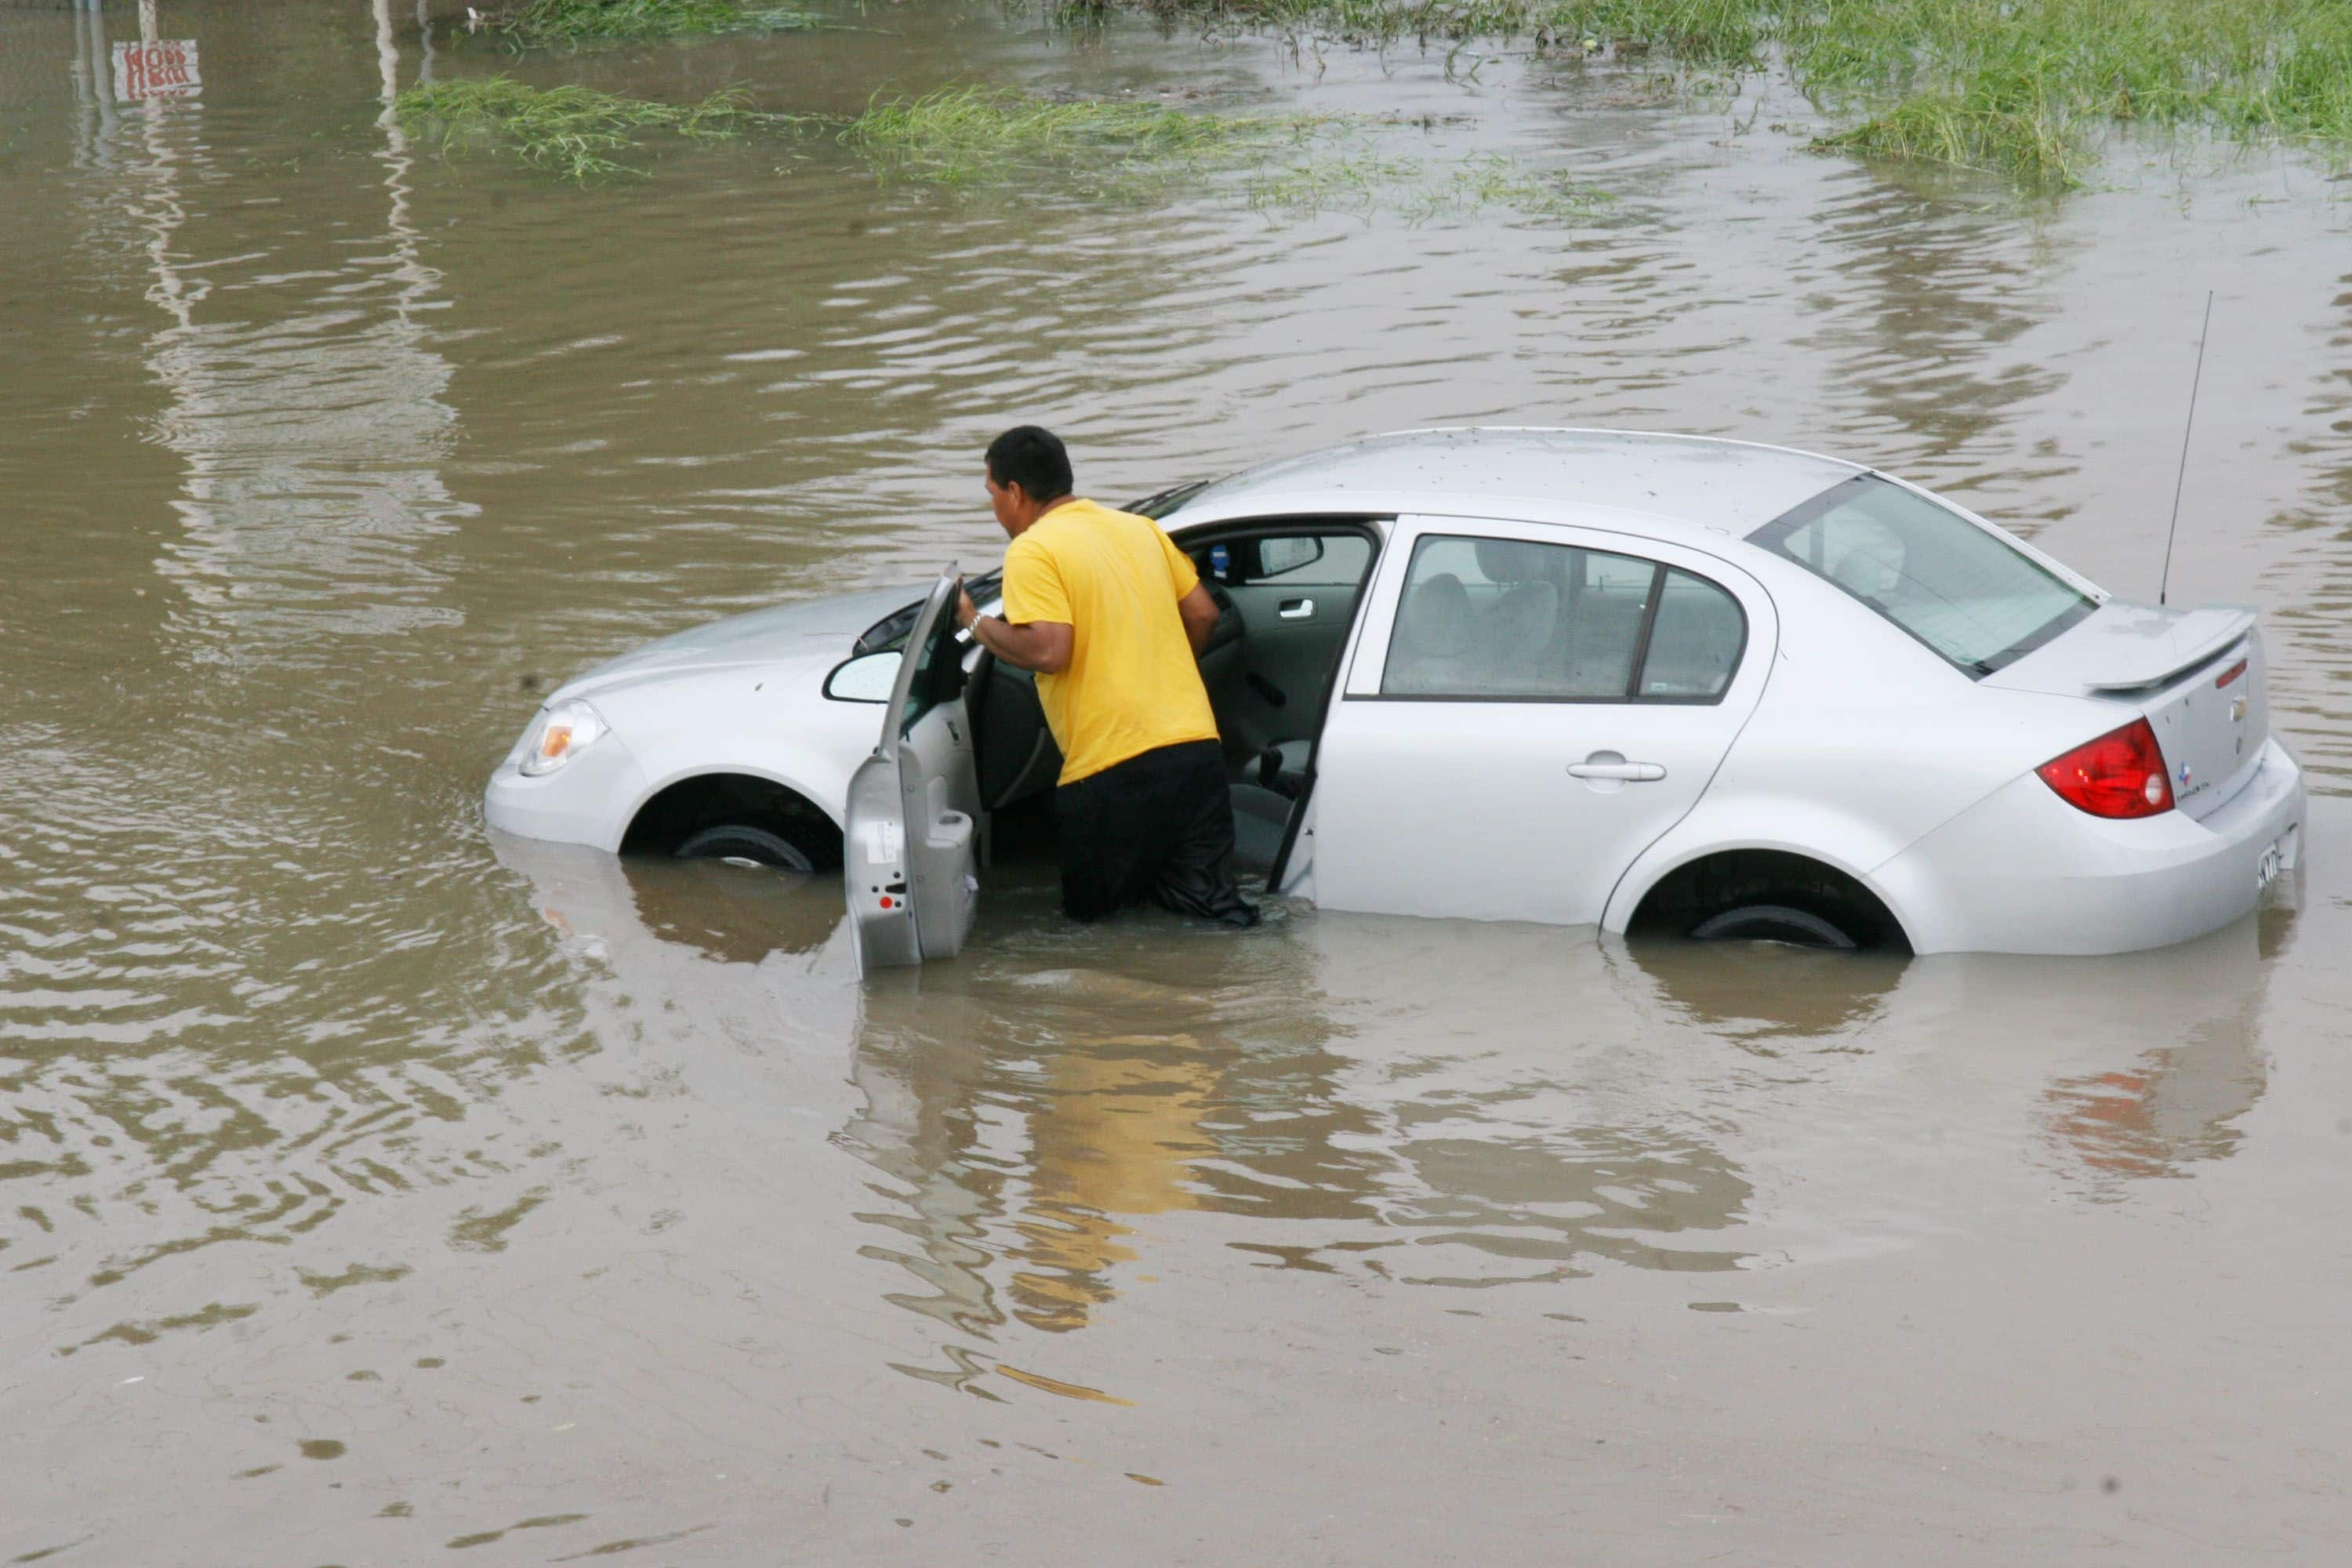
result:
<svg viewBox="0 0 2352 1568"><path fill-rule="evenodd" d="M1649 604L1642 611L1642 632L1635 644L1632 668L1625 677L1625 696L1536 696L1522 691L1508 691L1496 696L1439 696L1423 691L1381 691L1381 679L1388 672L1388 654L1397 635L1397 604L1404 597L1404 583L1411 576L1411 562L1423 538L1498 538L1512 543L1531 545L1562 545L1569 550L1588 550L1592 555L1621 555L1637 562L1649 562L1651 590ZM1715 696L1639 696L1644 665L1649 663L1651 632L1658 625L1658 604L1665 597L1665 574L1682 571L1693 576L1710 588L1719 588L1731 604L1740 611L1740 651L1731 663L1731 679L1724 682L1722 691ZM1762 611L1762 614L1759 614ZM1409 515L1397 517L1395 529L1388 536L1388 548L1381 559L1374 559L1374 581L1369 592L1364 592L1357 604L1357 628L1350 656L1345 663L1345 679L1338 689L1338 701L1348 703L1519 703L1541 708L1717 708L1729 703L1733 693L1740 693L1748 677L1755 672L1762 677L1766 661L1752 658L1759 646L1757 628L1773 630L1773 618L1769 614L1769 599L1764 597L1764 585L1750 578L1745 571L1724 562L1719 557L1705 555L1703 550L1686 550L1656 538L1644 538L1637 534L1609 534L1604 529L1585 529L1557 522L1517 522L1505 517L1439 517L1439 515ZM1769 646L1771 639L1764 639ZM1329 710L1324 722L1329 724Z"/></svg>

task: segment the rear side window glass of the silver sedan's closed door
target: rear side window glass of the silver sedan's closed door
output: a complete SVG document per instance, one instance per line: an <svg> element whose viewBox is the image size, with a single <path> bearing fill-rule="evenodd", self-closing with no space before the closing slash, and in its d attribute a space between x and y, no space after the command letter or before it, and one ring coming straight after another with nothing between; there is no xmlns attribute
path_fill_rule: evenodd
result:
<svg viewBox="0 0 2352 1568"><path fill-rule="evenodd" d="M1748 644L1715 583L1632 555L1430 534L1414 545L1383 696L1712 703Z"/></svg>

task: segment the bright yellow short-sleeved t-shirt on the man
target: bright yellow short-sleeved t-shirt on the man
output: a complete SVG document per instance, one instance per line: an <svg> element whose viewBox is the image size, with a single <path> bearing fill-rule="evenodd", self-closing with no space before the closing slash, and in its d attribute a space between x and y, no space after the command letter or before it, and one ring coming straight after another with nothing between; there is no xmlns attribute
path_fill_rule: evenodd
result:
<svg viewBox="0 0 2352 1568"><path fill-rule="evenodd" d="M1070 668L1037 677L1061 783L1181 741L1216 741L1176 599L1200 574L1160 524L1063 501L1004 552L1004 618L1070 628Z"/></svg>

